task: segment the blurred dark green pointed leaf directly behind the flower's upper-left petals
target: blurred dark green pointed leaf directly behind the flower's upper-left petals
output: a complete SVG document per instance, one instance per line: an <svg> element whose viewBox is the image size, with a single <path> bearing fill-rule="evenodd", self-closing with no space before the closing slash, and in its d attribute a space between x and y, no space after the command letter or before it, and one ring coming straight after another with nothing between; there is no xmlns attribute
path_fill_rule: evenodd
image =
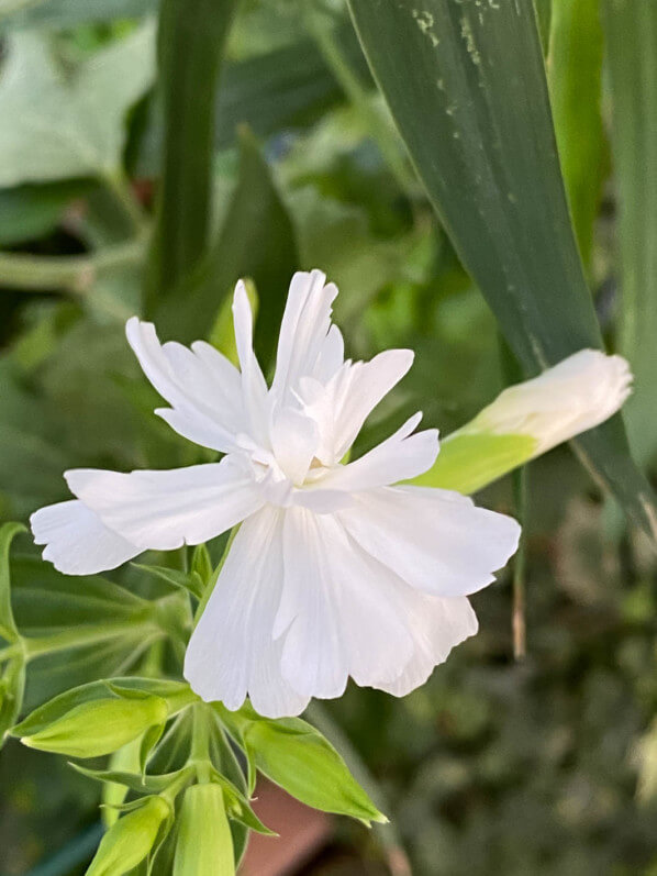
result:
<svg viewBox="0 0 657 876"><path fill-rule="evenodd" d="M240 179L218 239L156 320L163 333L181 341L203 337L235 282L248 277L258 290L255 346L265 364L274 353L298 255L292 224L267 162L249 133L243 132L240 145Z"/></svg>

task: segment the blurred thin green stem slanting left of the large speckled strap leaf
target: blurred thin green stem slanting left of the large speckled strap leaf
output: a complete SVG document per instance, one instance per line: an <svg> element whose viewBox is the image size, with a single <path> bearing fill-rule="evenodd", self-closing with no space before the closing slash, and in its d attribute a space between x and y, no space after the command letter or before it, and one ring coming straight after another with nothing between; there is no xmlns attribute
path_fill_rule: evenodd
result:
<svg viewBox="0 0 657 876"><path fill-rule="evenodd" d="M367 122L371 136L377 142L381 155L390 166L400 187L405 192L413 191L417 188L417 182L405 162L401 144L397 141L392 129L374 106L370 92L352 70L342 47L335 38L335 26L331 18L313 8L310 2L304 4L304 12L308 30L318 44L324 62L349 101Z"/></svg>

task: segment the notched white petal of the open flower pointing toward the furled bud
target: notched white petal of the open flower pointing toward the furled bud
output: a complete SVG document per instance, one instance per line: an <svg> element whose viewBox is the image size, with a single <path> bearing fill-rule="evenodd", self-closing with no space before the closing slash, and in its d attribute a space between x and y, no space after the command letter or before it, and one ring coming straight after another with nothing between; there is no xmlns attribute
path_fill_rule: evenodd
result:
<svg viewBox="0 0 657 876"><path fill-rule="evenodd" d="M438 455L438 433L435 429L427 429L411 434L421 419L421 413L414 414L365 456L330 470L312 489L358 492L410 480L426 472ZM308 489L310 491L311 488Z"/></svg>

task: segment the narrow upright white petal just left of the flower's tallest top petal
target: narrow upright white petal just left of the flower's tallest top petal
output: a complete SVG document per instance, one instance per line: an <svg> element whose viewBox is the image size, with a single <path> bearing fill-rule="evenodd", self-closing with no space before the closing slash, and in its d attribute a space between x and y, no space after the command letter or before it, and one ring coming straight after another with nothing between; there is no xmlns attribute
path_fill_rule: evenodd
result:
<svg viewBox="0 0 657 876"><path fill-rule="evenodd" d="M263 444L269 435L269 402L267 381L253 350L253 312L244 282L240 280L233 297L235 343L242 372L242 392L248 415L248 434Z"/></svg>

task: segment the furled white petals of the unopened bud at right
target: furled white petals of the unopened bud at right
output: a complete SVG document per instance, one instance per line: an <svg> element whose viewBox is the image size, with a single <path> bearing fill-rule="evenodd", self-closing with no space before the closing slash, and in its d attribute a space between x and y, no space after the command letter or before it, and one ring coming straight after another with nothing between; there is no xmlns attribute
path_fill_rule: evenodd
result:
<svg viewBox="0 0 657 876"><path fill-rule="evenodd" d="M458 434L528 435L534 456L600 425L632 392L632 372L622 356L580 350L533 380L504 389Z"/></svg>

